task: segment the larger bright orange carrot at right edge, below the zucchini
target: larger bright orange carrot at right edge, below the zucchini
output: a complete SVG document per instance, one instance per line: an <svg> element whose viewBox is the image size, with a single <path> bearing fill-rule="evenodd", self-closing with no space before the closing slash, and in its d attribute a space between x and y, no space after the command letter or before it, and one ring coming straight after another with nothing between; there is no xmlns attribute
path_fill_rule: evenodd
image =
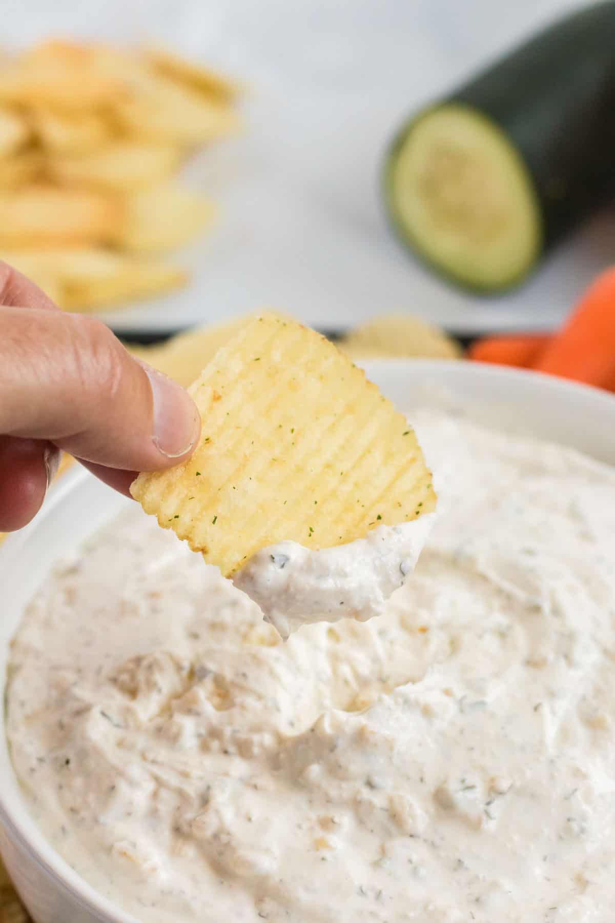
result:
<svg viewBox="0 0 615 923"><path fill-rule="evenodd" d="M597 277L532 367L598 388L615 382L615 269Z"/></svg>

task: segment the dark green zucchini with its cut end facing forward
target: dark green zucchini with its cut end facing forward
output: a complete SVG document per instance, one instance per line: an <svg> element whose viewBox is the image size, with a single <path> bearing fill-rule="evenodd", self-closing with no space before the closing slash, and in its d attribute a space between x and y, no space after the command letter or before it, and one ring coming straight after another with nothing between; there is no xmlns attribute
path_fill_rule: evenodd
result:
<svg viewBox="0 0 615 923"><path fill-rule="evenodd" d="M615 194L615 2L554 23L415 114L384 166L400 239L457 284L520 282Z"/></svg>

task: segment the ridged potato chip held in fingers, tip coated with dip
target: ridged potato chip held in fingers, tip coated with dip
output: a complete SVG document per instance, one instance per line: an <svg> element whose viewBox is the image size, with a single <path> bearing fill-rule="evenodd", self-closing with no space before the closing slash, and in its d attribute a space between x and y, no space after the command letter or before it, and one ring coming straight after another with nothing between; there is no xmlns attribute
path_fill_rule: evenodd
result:
<svg viewBox="0 0 615 923"><path fill-rule="evenodd" d="M436 502L404 415L333 343L274 314L248 320L188 390L199 444L188 462L139 474L146 512L282 635L379 613Z"/></svg>

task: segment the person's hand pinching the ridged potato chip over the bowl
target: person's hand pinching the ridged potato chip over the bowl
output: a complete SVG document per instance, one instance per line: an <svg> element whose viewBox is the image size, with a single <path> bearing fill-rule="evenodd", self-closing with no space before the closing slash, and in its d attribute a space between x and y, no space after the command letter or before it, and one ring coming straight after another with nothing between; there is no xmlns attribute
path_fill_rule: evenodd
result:
<svg viewBox="0 0 615 923"><path fill-rule="evenodd" d="M182 462L199 433L179 385L0 263L0 532L38 512L60 450L128 495L136 472Z"/></svg>

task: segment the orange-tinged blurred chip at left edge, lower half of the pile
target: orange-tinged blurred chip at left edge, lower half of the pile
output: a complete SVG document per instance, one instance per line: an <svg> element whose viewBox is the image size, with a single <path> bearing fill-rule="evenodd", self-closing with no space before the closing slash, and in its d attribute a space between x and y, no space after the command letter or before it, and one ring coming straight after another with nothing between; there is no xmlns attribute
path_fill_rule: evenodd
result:
<svg viewBox="0 0 615 923"><path fill-rule="evenodd" d="M113 197L87 189L23 186L0 189L0 246L89 243L117 236L122 210Z"/></svg>

